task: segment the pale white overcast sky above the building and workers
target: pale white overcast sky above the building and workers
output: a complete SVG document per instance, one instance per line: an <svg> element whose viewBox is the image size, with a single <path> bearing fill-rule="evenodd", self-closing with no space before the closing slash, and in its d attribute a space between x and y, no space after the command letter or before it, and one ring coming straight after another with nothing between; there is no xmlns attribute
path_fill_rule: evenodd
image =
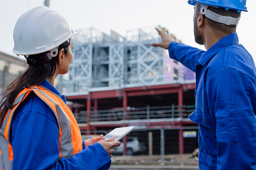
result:
<svg viewBox="0 0 256 170"><path fill-rule="evenodd" d="M160 25L187 45L200 49L194 42L193 6L187 0L49 0L74 29L94 27L110 34L113 30L126 37L126 31ZM13 30L26 11L44 5L44 0L6 0L0 4L0 51L14 55ZM256 62L256 1L247 0L249 12L242 12L237 26L239 42ZM79 35L77 35L79 36Z"/></svg>

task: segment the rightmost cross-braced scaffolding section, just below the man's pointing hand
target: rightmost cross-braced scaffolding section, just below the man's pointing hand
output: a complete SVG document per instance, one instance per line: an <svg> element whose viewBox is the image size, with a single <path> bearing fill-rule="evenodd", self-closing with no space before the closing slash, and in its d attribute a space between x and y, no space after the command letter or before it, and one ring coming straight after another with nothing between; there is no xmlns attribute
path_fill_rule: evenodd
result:
<svg viewBox="0 0 256 170"><path fill-rule="evenodd" d="M157 40L159 41L159 40ZM145 85L163 82L163 51L150 46L151 41L126 44L125 84Z"/></svg>

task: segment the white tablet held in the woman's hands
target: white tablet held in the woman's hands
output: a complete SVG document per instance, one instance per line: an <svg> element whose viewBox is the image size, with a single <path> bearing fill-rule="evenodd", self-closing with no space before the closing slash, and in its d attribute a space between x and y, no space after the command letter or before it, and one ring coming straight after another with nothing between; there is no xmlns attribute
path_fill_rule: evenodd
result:
<svg viewBox="0 0 256 170"><path fill-rule="evenodd" d="M113 136L116 136L115 141L118 141L122 139L125 135L127 135L129 132L131 132L134 129L134 126L129 126L129 127L118 127L106 134L104 136L105 139L109 139Z"/></svg>

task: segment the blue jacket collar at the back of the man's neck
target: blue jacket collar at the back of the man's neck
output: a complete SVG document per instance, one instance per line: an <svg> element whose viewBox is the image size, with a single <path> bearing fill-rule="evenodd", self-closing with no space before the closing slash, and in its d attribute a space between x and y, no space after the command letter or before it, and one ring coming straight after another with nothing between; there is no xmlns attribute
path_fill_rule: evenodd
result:
<svg viewBox="0 0 256 170"><path fill-rule="evenodd" d="M238 36L236 33L230 34L223 37L220 41L214 44L210 49L208 49L204 55L199 59L199 63L203 66L205 65L216 53L218 53L222 48L229 46L233 43L238 43Z"/></svg>

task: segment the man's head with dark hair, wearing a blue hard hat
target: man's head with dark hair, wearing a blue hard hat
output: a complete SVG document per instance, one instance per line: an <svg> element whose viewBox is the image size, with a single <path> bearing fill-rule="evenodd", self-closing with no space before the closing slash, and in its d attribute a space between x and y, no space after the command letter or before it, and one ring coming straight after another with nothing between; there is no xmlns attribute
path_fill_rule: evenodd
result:
<svg viewBox="0 0 256 170"><path fill-rule="evenodd" d="M190 5L195 5L194 11L194 35L196 43L203 45L203 33L200 31L198 21L202 26L207 24L215 34L232 34L236 31L236 25L240 19L240 11L247 11L246 0L216 1L211 4L207 0L189 0ZM199 19L199 20L198 20Z"/></svg>

